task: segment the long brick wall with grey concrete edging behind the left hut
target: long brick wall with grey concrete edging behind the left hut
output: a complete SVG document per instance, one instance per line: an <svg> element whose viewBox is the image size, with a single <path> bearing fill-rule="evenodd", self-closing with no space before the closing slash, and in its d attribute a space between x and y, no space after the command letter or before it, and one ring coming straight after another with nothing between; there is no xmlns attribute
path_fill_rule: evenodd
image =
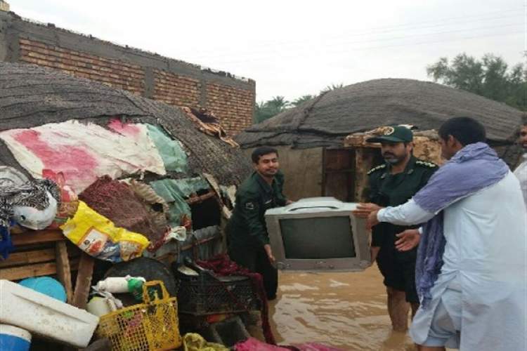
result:
<svg viewBox="0 0 527 351"><path fill-rule="evenodd" d="M230 135L252 124L256 83L0 11L0 60L99 81L170 105L206 107Z"/></svg>

